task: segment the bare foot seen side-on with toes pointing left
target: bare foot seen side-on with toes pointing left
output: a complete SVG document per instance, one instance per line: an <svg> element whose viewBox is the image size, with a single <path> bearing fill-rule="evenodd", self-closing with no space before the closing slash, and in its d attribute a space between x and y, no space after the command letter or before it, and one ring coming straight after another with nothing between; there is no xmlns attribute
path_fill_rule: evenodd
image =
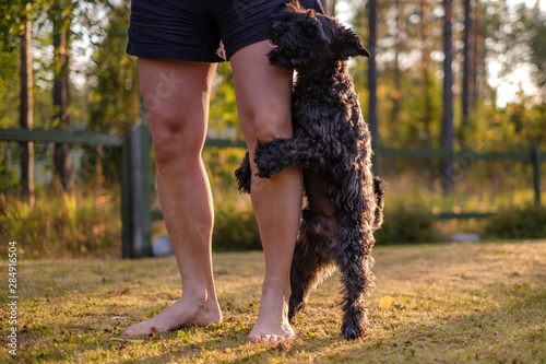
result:
<svg viewBox="0 0 546 364"><path fill-rule="evenodd" d="M216 300L207 297L186 298L185 295L163 313L146 321L127 328L122 334L149 334L152 331L163 332L180 328L181 326L206 326L207 324L222 322L222 312Z"/></svg>

